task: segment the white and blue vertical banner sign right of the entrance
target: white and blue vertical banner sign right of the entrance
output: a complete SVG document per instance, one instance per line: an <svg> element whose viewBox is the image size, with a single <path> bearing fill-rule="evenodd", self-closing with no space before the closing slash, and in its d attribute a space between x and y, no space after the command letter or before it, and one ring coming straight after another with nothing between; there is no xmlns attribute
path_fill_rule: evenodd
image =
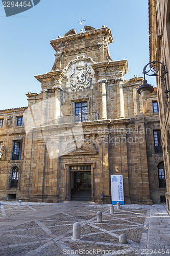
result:
<svg viewBox="0 0 170 256"><path fill-rule="evenodd" d="M111 175L112 204L124 204L123 175Z"/></svg>

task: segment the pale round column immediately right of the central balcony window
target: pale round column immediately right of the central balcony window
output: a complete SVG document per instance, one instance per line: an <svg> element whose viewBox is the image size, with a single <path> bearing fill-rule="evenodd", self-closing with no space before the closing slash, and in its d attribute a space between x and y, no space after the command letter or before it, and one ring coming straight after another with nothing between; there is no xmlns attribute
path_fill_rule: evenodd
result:
<svg viewBox="0 0 170 256"><path fill-rule="evenodd" d="M106 100L106 79L98 80L100 84L100 94L102 101L102 116L101 119L107 119L107 100Z"/></svg>

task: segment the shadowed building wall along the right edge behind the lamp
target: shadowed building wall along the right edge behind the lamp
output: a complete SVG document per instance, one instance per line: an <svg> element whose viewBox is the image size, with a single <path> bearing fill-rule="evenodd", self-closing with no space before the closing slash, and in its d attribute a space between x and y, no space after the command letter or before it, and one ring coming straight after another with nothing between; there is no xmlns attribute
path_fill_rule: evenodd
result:
<svg viewBox="0 0 170 256"><path fill-rule="evenodd" d="M149 33L150 33L150 61L160 61L165 65L167 90L169 91L169 70L170 70L170 1L150 0L149 1ZM162 66L158 65L159 75L162 75ZM158 104L160 114L160 129L162 137L163 158L165 163L166 176L166 205L170 215L170 101L165 94L165 84L161 77L156 77Z"/></svg>

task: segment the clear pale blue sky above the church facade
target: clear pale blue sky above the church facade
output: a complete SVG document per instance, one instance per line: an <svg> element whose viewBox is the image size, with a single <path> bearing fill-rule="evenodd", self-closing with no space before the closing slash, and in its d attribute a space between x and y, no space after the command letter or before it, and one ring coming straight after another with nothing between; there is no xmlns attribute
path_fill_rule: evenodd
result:
<svg viewBox="0 0 170 256"><path fill-rule="evenodd" d="M80 32L78 23L96 29L111 29L112 60L128 60L125 79L143 76L149 62L148 0L41 0L34 8L6 17L0 2L0 110L27 106L26 93L40 93L34 77L50 72L55 61L52 39L70 29ZM156 86L155 79L148 82Z"/></svg>

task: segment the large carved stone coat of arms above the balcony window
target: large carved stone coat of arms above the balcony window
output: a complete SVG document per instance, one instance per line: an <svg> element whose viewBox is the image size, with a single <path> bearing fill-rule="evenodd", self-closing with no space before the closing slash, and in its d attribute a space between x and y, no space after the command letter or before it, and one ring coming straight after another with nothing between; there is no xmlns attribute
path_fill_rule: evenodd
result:
<svg viewBox="0 0 170 256"><path fill-rule="evenodd" d="M74 65L70 75L70 86L72 91L80 91L91 86L91 66L87 63Z"/></svg>

